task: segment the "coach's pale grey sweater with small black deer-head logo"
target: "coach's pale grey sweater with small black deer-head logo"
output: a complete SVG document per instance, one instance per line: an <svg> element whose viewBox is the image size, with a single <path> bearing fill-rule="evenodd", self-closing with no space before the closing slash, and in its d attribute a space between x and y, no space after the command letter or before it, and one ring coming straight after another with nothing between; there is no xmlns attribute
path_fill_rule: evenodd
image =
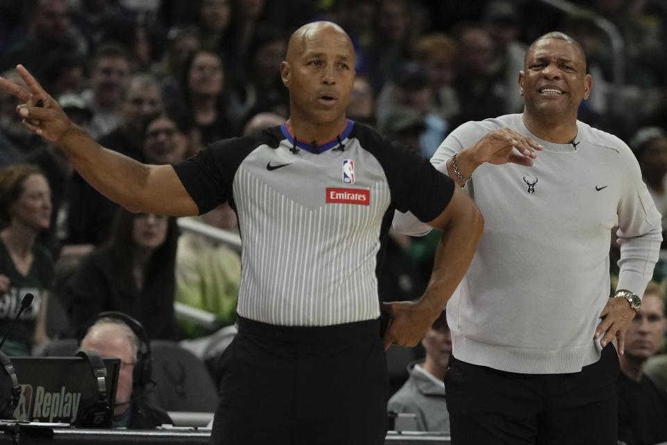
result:
<svg viewBox="0 0 667 445"><path fill-rule="evenodd" d="M582 122L576 148L536 138L520 114L468 122L431 163L446 173L454 152L502 127L544 150L532 167L480 165L466 185L485 229L447 304L454 356L516 373L580 371L600 357L593 335L610 294L611 229L618 225L621 243L618 289L641 296L658 258L661 216L629 147Z"/></svg>

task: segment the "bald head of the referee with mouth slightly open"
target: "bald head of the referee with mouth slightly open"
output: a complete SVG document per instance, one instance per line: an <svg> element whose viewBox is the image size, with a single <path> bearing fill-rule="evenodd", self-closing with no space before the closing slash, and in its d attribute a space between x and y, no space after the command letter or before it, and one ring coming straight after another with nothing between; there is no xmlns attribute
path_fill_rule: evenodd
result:
<svg viewBox="0 0 667 445"><path fill-rule="evenodd" d="M331 24L311 24L290 39L281 67L292 115L325 124L345 118L352 96L355 54L347 34Z"/></svg>

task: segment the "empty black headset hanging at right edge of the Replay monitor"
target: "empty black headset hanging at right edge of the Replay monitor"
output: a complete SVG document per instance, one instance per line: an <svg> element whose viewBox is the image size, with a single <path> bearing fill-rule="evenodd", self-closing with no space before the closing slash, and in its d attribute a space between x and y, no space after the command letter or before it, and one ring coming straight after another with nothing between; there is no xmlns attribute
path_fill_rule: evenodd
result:
<svg viewBox="0 0 667 445"><path fill-rule="evenodd" d="M111 428L112 412L106 396L106 366L98 353L92 350L80 350L76 357L83 357L92 369L97 381L97 392L91 398L82 401L76 425L83 428Z"/></svg>

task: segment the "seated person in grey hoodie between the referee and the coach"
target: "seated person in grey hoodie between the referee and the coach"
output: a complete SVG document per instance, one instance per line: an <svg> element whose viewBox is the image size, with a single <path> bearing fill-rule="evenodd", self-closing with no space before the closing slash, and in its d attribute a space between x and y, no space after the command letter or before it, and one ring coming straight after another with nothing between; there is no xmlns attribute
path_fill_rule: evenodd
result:
<svg viewBox="0 0 667 445"><path fill-rule="evenodd" d="M389 399L388 410L417 416L419 431L450 432L450 417L445 405L445 371L452 354L452 334L445 311L433 322L422 340L426 359L409 366L410 377Z"/></svg>

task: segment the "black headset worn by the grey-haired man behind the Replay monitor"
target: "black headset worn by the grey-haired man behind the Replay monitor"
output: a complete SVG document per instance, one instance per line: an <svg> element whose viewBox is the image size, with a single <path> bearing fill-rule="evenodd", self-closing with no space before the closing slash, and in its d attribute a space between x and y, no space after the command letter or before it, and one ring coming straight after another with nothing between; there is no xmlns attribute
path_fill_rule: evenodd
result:
<svg viewBox="0 0 667 445"><path fill-rule="evenodd" d="M86 323L85 330L82 332L79 343L83 340L83 336L87 333L88 329L101 318L111 318L113 320L121 321L124 325L129 327L132 332L139 339L139 346L137 348L137 362L134 365L134 370L132 373L132 394L133 398L140 396L147 391L151 386L155 386L155 382L152 380L153 374L153 355L151 354L151 343L146 335L144 327L138 320L135 318L124 314L123 312L117 311L107 311L100 312L92 318L91 321Z"/></svg>

